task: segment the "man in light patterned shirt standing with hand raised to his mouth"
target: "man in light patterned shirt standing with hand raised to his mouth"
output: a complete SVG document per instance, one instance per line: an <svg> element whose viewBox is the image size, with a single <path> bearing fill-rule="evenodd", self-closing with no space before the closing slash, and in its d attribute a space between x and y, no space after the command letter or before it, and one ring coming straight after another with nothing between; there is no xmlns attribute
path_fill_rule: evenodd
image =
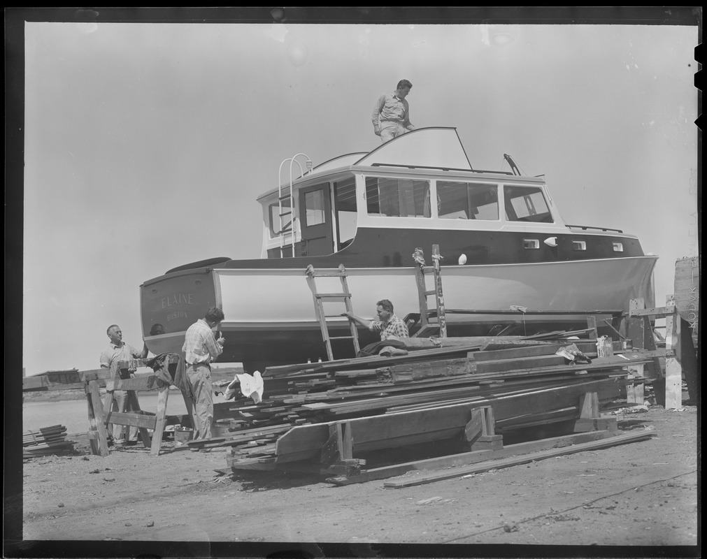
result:
<svg viewBox="0 0 707 559"><path fill-rule="evenodd" d="M209 307L203 319L197 320L187 329L182 351L187 363L187 377L194 394L194 419L199 439L211 438L214 423L214 392L211 387L211 362L223 353L223 343L211 331L223 320L223 311Z"/></svg>

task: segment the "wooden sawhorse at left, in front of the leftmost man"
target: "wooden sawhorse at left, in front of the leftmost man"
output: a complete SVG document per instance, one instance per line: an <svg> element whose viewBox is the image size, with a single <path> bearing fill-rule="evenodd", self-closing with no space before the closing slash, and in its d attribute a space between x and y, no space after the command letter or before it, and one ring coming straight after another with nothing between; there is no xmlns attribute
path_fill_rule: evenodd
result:
<svg viewBox="0 0 707 559"><path fill-rule="evenodd" d="M86 387L86 396L88 399L88 420L90 430L88 431L88 439L90 441L91 452L107 456L108 451L108 432L107 425L124 425L127 428L136 427L139 430L141 441L146 448L150 449L152 456L157 456L160 453L160 445L162 444L163 432L165 430L167 399L169 396L170 385L166 383L160 386L158 379L154 375L141 375L134 378L127 377L129 368L142 367L145 365L144 359L119 361L113 364L112 369L103 372L88 372L83 377ZM171 360L170 360L171 363ZM122 373L122 374L121 374ZM112 392L105 394L105 399L101 402L99 393L99 378L115 379L115 390L126 390L128 411L112 411L113 400L115 395ZM152 414L142 411L139 408L136 392L146 390L158 390L157 413ZM151 430L150 437L148 430ZM127 434L126 434L127 435ZM126 437L127 438L127 437Z"/></svg>

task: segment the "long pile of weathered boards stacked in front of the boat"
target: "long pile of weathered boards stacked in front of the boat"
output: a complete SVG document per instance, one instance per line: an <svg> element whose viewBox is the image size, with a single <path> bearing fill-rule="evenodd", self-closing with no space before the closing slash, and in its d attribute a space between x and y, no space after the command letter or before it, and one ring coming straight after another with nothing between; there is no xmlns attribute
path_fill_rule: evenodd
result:
<svg viewBox="0 0 707 559"><path fill-rule="evenodd" d="M575 343L592 363L568 362L556 355L559 348L569 343ZM614 349L617 353L621 351L620 343ZM579 415L580 394L592 391L600 399L602 394L604 399L612 399L617 396L621 382L626 382L625 367L650 360L650 356L639 353L596 358L595 341L566 339L487 339L483 343L450 343L445 347L410 350L408 355L395 357L270 367L263 375L262 402L240 401L231 406L230 417L219 421L223 437L194 440L189 447L228 446L231 447L229 466L265 468L267 464L316 457L327 442L327 425L342 420L396 414L413 417L431 408L455 406L468 411L474 406L493 405L500 399L516 404L530 402L506 407L501 405L503 402L499 404L504 410L496 414L500 433L571 420ZM520 398L532 394L547 397ZM437 420L447 421L443 416ZM323 429L303 429L312 425L321 425ZM458 428L463 429L463 423L453 428L432 425L431 432L425 435L406 432L404 437L395 435L396 440L390 441L383 435L361 449L451 437ZM385 432L385 419L375 429ZM291 430L303 435L298 435L298 442L286 445L284 440L288 437L284 435ZM311 440L304 433L311 433ZM289 438L295 440L291 435ZM363 445L360 437L358 442Z"/></svg>

